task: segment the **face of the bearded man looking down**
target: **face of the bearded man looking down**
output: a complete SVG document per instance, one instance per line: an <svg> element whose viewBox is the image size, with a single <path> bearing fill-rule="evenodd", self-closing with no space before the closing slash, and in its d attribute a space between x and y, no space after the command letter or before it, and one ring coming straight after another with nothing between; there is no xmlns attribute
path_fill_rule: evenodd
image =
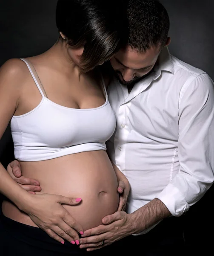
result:
<svg viewBox="0 0 214 256"><path fill-rule="evenodd" d="M151 47L146 52L137 52L130 47L120 49L110 60L114 75L121 84L132 86L152 70L159 54L160 46Z"/></svg>

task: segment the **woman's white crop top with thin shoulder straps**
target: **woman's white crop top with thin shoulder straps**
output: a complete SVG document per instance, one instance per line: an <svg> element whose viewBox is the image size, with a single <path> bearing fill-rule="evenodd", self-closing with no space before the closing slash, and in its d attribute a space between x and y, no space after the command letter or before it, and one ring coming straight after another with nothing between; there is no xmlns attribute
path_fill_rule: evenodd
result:
<svg viewBox="0 0 214 256"><path fill-rule="evenodd" d="M15 158L40 161L83 151L106 150L106 141L114 133L116 119L103 78L106 102L102 106L67 108L45 97L32 64L21 60L27 64L42 100L30 112L11 119Z"/></svg>

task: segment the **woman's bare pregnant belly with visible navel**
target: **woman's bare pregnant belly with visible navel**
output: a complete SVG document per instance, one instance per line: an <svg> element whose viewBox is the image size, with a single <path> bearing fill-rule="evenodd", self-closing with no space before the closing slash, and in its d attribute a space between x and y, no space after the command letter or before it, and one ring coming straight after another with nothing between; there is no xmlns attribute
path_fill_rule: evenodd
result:
<svg viewBox="0 0 214 256"><path fill-rule="evenodd" d="M75 206L63 205L84 230L102 224L102 218L117 211L117 177L106 151L88 151L51 160L20 162L23 176L40 182L41 192L82 198ZM29 215L3 201L3 214L37 227Z"/></svg>

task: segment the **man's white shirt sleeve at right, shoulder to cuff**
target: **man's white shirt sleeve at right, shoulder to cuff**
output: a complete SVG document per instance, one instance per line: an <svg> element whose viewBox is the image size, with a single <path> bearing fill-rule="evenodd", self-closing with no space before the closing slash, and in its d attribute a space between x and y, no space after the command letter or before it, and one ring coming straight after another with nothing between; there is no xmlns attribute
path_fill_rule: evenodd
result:
<svg viewBox="0 0 214 256"><path fill-rule="evenodd" d="M208 74L183 86L178 125L180 169L157 196L174 216L199 201L214 182L214 83Z"/></svg>

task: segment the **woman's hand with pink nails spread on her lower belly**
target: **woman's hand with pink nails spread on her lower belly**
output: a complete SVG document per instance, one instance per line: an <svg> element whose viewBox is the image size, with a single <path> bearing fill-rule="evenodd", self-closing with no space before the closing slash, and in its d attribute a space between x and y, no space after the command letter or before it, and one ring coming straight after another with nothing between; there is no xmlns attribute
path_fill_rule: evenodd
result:
<svg viewBox="0 0 214 256"><path fill-rule="evenodd" d="M79 244L79 234L83 235L83 227L72 218L62 206L77 205L81 198L68 198L61 195L31 195L27 205L19 207L31 220L53 239L64 244L66 239L72 244ZM62 239L63 238L63 239Z"/></svg>

